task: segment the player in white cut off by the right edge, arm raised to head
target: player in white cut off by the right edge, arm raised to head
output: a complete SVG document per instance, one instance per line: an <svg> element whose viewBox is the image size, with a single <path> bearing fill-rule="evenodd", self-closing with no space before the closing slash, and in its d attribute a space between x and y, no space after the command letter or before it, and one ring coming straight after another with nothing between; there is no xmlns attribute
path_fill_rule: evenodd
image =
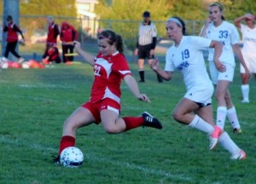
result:
<svg viewBox="0 0 256 184"><path fill-rule="evenodd" d="M245 20L246 25L241 24ZM243 47L241 53L247 64L247 67L256 78L256 26L254 25L255 15L251 13L244 14L236 18L235 25L241 31ZM241 72L241 94L242 103L249 103L249 78L245 74L244 67L240 65Z"/></svg>

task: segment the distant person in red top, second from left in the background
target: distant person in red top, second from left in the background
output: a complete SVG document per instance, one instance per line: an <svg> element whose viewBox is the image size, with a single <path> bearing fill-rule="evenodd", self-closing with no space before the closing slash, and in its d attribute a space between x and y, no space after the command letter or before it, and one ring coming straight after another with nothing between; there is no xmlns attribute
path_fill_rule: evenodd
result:
<svg viewBox="0 0 256 184"><path fill-rule="evenodd" d="M44 51L43 59L47 56L48 49L52 45L56 46L57 37L60 34L59 26L55 24L52 16L47 17L47 22L48 22L48 33L47 33L46 48Z"/></svg>

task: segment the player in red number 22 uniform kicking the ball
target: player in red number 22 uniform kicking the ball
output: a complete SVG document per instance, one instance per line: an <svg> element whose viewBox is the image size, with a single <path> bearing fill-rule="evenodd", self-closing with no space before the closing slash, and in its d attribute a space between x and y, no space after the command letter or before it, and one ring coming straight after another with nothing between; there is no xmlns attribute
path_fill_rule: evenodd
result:
<svg viewBox="0 0 256 184"><path fill-rule="evenodd" d="M67 147L75 145L76 129L90 124L102 123L103 129L108 134L118 134L139 126L148 126L162 129L157 118L148 112L143 112L140 117L120 118L120 83L124 80L137 100L149 102L148 96L141 94L135 78L132 77L130 68L123 55L122 37L110 30L105 30L98 36L99 54L90 55L81 49L79 42L74 42L75 48L94 68L95 80L92 85L90 100L79 106L67 118L62 132L59 156ZM59 163L59 156L54 159Z"/></svg>

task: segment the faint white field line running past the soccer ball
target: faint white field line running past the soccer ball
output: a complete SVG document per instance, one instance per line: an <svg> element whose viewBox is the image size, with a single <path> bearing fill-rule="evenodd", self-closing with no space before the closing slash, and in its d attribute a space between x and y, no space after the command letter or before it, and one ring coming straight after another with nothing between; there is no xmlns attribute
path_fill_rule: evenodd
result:
<svg viewBox="0 0 256 184"><path fill-rule="evenodd" d="M38 151L50 151L50 152L57 152L58 150L56 148L53 148L53 147L44 147L40 144L26 144L22 141L19 141L18 139L9 139L3 135L0 136L0 142L2 143L8 143L8 144L13 144L15 146L23 146L23 147L29 147L29 148L32 148L32 149L35 149L35 150L38 150ZM127 168L127 169L130 169L130 170L140 170L140 171L143 171L143 173L145 174L150 174L150 175L160 175L160 176L163 176L163 177L167 177L167 178L176 178L176 179L179 179L179 180L182 180L182 181L190 181L191 178L190 177L187 177L187 176L183 176L183 175L173 175L172 173L166 171L166 170L157 170L157 169L151 169L151 168L148 168L148 167L144 167L144 166L141 166L141 165L137 165L137 164L131 164L131 163L128 163L128 162L119 162L119 161L115 161L115 160L112 160L112 159L108 159L106 158L106 156L104 156L104 158L97 158L91 154L84 154L84 158L87 158L91 161L96 161L98 163L109 163L109 164L113 164L113 165L117 165L119 167L123 167L123 168Z"/></svg>

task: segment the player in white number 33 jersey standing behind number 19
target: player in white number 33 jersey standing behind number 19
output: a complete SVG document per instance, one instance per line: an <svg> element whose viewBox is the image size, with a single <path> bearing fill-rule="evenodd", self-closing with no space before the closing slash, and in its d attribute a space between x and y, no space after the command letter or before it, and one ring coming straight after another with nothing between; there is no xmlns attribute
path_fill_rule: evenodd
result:
<svg viewBox="0 0 256 184"><path fill-rule="evenodd" d="M245 68L245 75L247 78L250 76L250 72L247 69L247 65L241 55L241 49L239 48L239 33L236 30L236 26L224 21L223 16L224 7L221 3L212 3L208 7L209 16L205 25L201 30L201 37L207 37L212 40L217 40L223 43L223 52L219 60L221 60L224 71L216 66L213 62L214 50L209 49L209 67L212 78L212 83L216 84L216 99L218 101L217 108L217 125L224 129L225 118L228 116L230 124L233 127L234 133L241 132L241 126L239 124L236 107L231 100L229 86L234 78L235 72L235 56L233 50L238 57L241 65Z"/></svg>

